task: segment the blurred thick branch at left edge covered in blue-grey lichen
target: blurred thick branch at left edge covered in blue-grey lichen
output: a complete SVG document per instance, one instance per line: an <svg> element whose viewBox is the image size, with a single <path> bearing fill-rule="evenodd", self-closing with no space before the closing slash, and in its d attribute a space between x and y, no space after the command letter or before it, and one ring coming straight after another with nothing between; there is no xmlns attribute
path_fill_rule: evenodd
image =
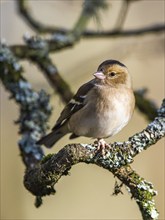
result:
<svg viewBox="0 0 165 220"><path fill-rule="evenodd" d="M43 90L36 92L32 89L23 77L23 68L5 45L1 45L0 49L0 79L10 92L10 98L20 107L16 123L20 126L22 138L18 144L25 165L34 167L44 156L36 141L48 129L51 114L49 96Z"/></svg>

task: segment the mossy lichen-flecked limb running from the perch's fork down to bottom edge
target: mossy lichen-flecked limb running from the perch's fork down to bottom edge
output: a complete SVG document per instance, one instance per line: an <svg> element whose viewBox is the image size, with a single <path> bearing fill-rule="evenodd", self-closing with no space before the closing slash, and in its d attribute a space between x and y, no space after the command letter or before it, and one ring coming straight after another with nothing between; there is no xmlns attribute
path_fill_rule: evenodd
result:
<svg viewBox="0 0 165 220"><path fill-rule="evenodd" d="M128 192L139 206L142 218L144 220L157 219L159 214L153 199L157 192L152 183L139 176L129 165L117 169L114 175L127 186Z"/></svg>

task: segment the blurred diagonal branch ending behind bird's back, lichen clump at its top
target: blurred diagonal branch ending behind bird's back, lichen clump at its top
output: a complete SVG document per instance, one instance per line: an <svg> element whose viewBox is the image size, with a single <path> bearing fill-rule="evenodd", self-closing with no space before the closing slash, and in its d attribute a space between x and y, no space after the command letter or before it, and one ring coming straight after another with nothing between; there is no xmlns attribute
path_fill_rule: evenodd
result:
<svg viewBox="0 0 165 220"><path fill-rule="evenodd" d="M57 67L49 56L49 49L52 43L49 41L49 45L48 41L40 37L26 36L24 39L27 45L20 47L11 46L13 53L18 58L28 59L38 66L55 92L60 95L61 100L65 103L69 102L73 96L71 89L66 81L64 81L64 79L61 77Z"/></svg>

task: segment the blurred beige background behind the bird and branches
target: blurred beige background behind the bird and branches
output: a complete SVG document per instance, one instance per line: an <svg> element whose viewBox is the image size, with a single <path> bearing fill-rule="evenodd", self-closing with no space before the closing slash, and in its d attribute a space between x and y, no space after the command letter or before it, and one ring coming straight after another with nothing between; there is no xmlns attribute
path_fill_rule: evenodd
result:
<svg viewBox="0 0 165 220"><path fill-rule="evenodd" d="M89 28L109 30L115 26L122 1L108 1L110 7L101 13L101 25L95 21ZM36 19L44 24L71 28L81 11L81 0L28 0ZM34 34L18 15L15 0L1 0L1 38L7 44L22 44L25 33ZM164 0L141 0L131 4L124 29L146 27L165 22ZM148 97L159 106L164 97L165 40L164 33L146 34L128 38L82 39L73 48L51 54L62 77L71 85L72 91L92 78L98 64L105 59L117 59L129 69L134 89L148 88ZM50 127L59 116L63 104L38 69L29 62L21 62L25 77L33 88L44 88L52 95L54 112ZM60 179L55 196L43 198L43 205L34 207L34 196L23 186L24 165L19 155L17 141L18 106L8 99L9 94L1 85L1 219L141 219L134 200L123 187L124 195L112 196L115 179L111 173L94 165L78 164L70 176ZM108 142L124 141L141 131L148 122L135 110L131 122ZM60 140L46 154L59 151L67 143L68 136ZM74 142L91 143L88 138ZM158 191L155 197L159 219L164 216L164 140L142 152L132 167Z"/></svg>

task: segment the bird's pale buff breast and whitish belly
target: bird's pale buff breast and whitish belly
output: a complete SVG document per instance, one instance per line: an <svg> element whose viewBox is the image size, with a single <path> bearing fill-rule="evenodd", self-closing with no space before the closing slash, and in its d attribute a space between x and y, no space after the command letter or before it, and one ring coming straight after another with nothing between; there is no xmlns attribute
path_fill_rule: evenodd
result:
<svg viewBox="0 0 165 220"><path fill-rule="evenodd" d="M101 94L100 90L98 93L93 91L85 102L85 106L70 118L69 130L93 138L105 138L118 133L130 120L134 108L131 90L123 88L111 88L108 96L104 91Z"/></svg>

